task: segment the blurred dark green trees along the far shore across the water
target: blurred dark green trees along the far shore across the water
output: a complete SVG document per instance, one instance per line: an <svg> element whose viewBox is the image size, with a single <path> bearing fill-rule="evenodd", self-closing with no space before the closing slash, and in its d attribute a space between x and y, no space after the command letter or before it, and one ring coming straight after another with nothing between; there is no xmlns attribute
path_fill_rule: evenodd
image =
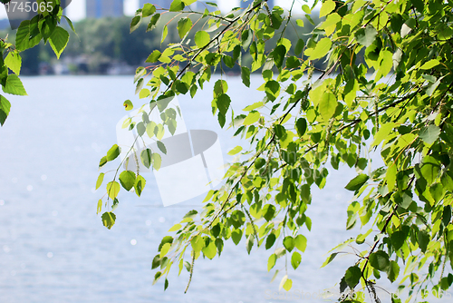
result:
<svg viewBox="0 0 453 303"><path fill-rule="evenodd" d="M302 22L293 21L296 31L287 31L286 39L297 41L299 38L306 40L308 34L313 31L315 24L320 23L320 19L313 14L313 24L305 17L300 19ZM62 54L63 63L70 62L73 73L105 73L106 66L112 64L128 64L138 67L145 64L145 60L154 50L163 51L167 44L177 43L179 40L177 22L171 20L174 15L166 15L159 20L158 31L146 32L147 24L140 24L140 28L130 33L130 17L120 18L101 18L84 19L75 23L77 35L72 34L69 44ZM168 35L161 44L162 28L168 24ZM298 24L304 24L301 27ZM201 27L201 24L195 24ZM6 32L6 33L5 33ZM194 31L196 32L196 31ZM8 40L14 42L14 32L4 31L9 34ZM191 37L188 37L191 38ZM193 37L192 37L193 38ZM272 39L277 39L273 37ZM43 42L32 49L23 53L23 74L39 74L40 66L53 65L57 61L53 56L51 47ZM70 60L68 60L70 59ZM66 60L66 61L65 61ZM252 62L250 54L245 54L243 60ZM61 60L62 61L62 60ZM323 68L324 63L318 62L317 67ZM225 72L240 72L240 67L236 65L228 68L224 65ZM218 72L218 71L217 71Z"/></svg>

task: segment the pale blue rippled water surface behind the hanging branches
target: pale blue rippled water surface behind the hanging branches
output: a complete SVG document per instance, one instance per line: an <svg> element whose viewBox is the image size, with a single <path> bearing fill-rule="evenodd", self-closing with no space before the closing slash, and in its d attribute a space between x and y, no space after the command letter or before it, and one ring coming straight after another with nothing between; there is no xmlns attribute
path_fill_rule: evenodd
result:
<svg viewBox="0 0 453 303"><path fill-rule="evenodd" d="M238 78L228 83L236 111L251 98L261 99ZM24 85L29 96L10 98L12 112L0 128L0 302L299 301L278 296L284 274L270 283L271 252L254 248L248 256L244 240L237 247L226 243L220 259L198 259L186 295L185 269L180 277L170 273L167 291L162 280L151 286L159 239L202 197L163 208L149 174L142 197L120 193L116 224L111 230L102 226L96 215L103 195L94 191L97 166L116 141L123 101L138 102L131 98L131 77L37 77L24 78ZM237 141L217 126L210 92L207 87L197 99L179 97L179 103L188 128L217 132L229 159L226 152ZM353 258L339 258L319 269L323 254L352 236L343 231L352 198L343 187L354 174L347 167L331 170L325 190L313 192L308 210L313 231L304 231L307 251L297 271L288 264L293 294L332 288L352 265ZM275 268L284 269L284 263Z"/></svg>

